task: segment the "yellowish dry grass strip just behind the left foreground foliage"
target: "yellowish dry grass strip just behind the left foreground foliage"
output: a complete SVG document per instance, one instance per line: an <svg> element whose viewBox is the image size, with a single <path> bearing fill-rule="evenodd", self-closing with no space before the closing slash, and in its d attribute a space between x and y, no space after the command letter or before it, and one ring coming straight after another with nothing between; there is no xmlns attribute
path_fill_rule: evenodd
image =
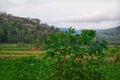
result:
<svg viewBox="0 0 120 80"><path fill-rule="evenodd" d="M44 51L1 51L0 59L17 59L21 57L35 56L41 58Z"/></svg>

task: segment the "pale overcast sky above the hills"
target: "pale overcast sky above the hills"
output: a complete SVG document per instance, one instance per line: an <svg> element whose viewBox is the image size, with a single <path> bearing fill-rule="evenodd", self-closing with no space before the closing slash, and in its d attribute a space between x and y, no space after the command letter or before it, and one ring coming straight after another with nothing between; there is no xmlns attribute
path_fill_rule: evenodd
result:
<svg viewBox="0 0 120 80"><path fill-rule="evenodd" d="M0 0L0 11L56 27L106 29L120 25L119 5L120 0Z"/></svg>

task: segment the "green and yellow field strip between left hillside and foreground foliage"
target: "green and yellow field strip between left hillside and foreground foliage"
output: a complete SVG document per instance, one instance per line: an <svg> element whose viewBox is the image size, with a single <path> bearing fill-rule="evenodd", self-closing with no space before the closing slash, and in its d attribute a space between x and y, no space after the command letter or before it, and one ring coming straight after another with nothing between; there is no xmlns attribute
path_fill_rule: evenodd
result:
<svg viewBox="0 0 120 80"><path fill-rule="evenodd" d="M0 44L0 59L16 59L35 56L40 58L44 51L33 51L32 44Z"/></svg>

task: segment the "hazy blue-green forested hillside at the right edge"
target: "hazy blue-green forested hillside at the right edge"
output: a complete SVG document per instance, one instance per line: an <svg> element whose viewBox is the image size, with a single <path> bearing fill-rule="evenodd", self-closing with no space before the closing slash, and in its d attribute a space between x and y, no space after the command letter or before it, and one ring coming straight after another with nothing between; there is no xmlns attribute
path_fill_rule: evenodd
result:
<svg viewBox="0 0 120 80"><path fill-rule="evenodd" d="M107 40L109 44L120 45L120 26L98 32L97 38Z"/></svg>

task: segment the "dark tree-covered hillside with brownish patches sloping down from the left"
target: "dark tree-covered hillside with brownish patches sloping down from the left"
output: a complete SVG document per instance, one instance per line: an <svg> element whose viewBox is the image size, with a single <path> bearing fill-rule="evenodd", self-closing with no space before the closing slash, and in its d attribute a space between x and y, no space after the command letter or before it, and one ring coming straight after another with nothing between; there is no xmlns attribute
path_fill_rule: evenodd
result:
<svg viewBox="0 0 120 80"><path fill-rule="evenodd" d="M59 31L59 28L41 23L37 18L17 17L0 12L0 43L30 43Z"/></svg>

